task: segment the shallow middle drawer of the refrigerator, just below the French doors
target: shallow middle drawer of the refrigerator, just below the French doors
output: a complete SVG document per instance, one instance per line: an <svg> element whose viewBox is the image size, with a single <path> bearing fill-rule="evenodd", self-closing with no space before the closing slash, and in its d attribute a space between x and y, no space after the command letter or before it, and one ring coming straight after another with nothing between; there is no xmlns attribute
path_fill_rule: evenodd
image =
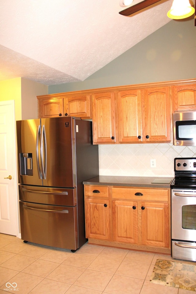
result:
<svg viewBox="0 0 196 294"><path fill-rule="evenodd" d="M19 185L19 199L26 202L75 206L76 188L49 188L39 186Z"/></svg>

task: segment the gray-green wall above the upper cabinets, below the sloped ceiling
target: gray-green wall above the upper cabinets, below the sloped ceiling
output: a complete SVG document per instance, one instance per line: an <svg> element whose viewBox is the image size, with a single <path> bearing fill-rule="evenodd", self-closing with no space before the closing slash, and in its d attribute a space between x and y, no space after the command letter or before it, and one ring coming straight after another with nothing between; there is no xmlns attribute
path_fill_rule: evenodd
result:
<svg viewBox="0 0 196 294"><path fill-rule="evenodd" d="M196 78L194 18L168 24L85 81L51 85L48 93Z"/></svg>

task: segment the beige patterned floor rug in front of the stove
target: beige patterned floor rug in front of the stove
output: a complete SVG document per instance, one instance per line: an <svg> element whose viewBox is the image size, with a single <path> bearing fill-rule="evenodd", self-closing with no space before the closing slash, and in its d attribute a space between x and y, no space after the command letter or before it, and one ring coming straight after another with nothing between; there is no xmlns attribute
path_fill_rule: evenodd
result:
<svg viewBox="0 0 196 294"><path fill-rule="evenodd" d="M150 281L196 291L196 264L157 259Z"/></svg>

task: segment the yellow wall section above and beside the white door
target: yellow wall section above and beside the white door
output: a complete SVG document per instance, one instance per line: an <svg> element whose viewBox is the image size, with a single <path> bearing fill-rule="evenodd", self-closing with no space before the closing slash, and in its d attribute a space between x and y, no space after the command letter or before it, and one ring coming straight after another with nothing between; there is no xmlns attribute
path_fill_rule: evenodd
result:
<svg viewBox="0 0 196 294"><path fill-rule="evenodd" d="M0 101L15 100L15 119L22 119L21 77L0 81Z"/></svg>

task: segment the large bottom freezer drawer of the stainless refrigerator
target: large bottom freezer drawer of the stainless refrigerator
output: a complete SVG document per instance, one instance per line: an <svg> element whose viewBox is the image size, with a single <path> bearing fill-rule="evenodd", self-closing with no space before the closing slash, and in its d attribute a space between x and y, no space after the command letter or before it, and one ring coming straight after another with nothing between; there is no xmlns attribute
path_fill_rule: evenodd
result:
<svg viewBox="0 0 196 294"><path fill-rule="evenodd" d="M78 249L77 208L20 201L21 238L40 245Z"/></svg>

